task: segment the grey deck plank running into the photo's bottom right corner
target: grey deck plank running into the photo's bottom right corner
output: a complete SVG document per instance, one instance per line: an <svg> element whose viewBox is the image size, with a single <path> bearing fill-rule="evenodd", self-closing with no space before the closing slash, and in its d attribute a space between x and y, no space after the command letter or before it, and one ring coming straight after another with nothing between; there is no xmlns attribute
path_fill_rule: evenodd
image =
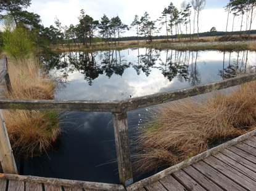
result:
<svg viewBox="0 0 256 191"><path fill-rule="evenodd" d="M220 173L225 174L225 176L232 179L237 184L241 185L245 189L254 190L256 187L256 182L248 179L247 176L240 173L239 171L234 170L230 166L226 165L225 163L221 162L215 157L208 157L203 159L208 165L218 170Z"/></svg>

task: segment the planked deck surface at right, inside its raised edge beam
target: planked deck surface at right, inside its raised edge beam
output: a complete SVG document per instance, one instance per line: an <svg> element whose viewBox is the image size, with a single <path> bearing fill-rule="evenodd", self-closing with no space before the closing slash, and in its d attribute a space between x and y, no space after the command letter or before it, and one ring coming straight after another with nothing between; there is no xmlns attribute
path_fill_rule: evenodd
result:
<svg viewBox="0 0 256 191"><path fill-rule="evenodd" d="M226 147L149 185L135 188L131 185L128 190L256 190L256 136Z"/></svg>

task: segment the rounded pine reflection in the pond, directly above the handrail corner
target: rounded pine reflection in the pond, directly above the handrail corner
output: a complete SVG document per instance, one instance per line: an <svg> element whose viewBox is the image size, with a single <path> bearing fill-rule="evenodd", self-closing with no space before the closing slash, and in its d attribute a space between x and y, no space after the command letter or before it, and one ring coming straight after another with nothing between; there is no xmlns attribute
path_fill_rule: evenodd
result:
<svg viewBox="0 0 256 191"><path fill-rule="evenodd" d="M104 59L102 59L101 63L102 70L109 78L113 74L122 76L125 69L130 67L130 63L127 64L124 57L120 55L120 50L110 50L108 52L104 52Z"/></svg>

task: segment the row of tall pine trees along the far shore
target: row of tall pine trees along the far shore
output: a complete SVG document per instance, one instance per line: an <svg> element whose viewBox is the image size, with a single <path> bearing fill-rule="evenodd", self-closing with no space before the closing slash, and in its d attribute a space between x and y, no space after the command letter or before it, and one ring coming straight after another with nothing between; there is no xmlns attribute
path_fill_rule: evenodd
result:
<svg viewBox="0 0 256 191"><path fill-rule="evenodd" d="M209 34L212 36L217 32L216 28L213 27L209 33L199 33L200 12L204 9L205 2L206 0L183 1L180 9L170 2L167 7L164 7L162 15L157 20L152 20L150 15L145 12L141 17L135 15L130 25L123 23L118 15L109 18L104 14L101 20L94 20L82 9L77 25L63 26L58 18L54 18L54 25L44 27L38 14L24 10L30 6L31 0L1 0L0 20L6 26L7 31L11 31L15 27L27 29L27 33L30 34L32 41L38 47L81 43L88 47L93 42L100 41L104 41L107 45L119 45L121 40L131 39L130 37L122 37L122 33L130 29L136 31L138 42L140 39L152 42L156 38L165 38L167 42L169 39L171 41L176 41L176 39L191 40L194 37L199 39L199 35ZM248 36L250 36L252 21L255 16L255 5L255 0L229 0L225 7L228 11L228 20L229 13L233 14L233 26L234 19L238 16L241 17L241 31L244 15L246 15ZM226 28L228 28L228 20ZM158 36L160 31L165 31L165 35ZM228 34L227 29L226 34ZM3 36L2 33L0 34L0 45L4 44L1 36Z"/></svg>

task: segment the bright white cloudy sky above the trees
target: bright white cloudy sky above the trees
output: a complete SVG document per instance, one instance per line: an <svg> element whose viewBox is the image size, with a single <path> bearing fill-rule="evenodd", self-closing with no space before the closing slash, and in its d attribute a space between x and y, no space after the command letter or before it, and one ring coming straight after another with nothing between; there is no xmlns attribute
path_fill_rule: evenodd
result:
<svg viewBox="0 0 256 191"><path fill-rule="evenodd" d="M85 14L90 15L94 20L101 20L103 14L109 18L118 15L123 23L130 25L134 15L137 14L140 18L146 11L152 20L157 20L162 15L164 7L168 7L170 2L180 9L182 1L179 0L31 0L31 6L27 10L40 15L45 27L54 25L55 17L60 20L62 26L76 25L81 9L84 9ZM199 32L210 31L213 26L217 31L226 30L227 12L223 7L227 3L228 0L206 0L205 9L199 16ZM228 31L232 29L233 18L231 17L229 17ZM241 18L237 17L234 22L235 31L239 30L240 22ZM255 26L254 23L252 29L255 29ZM128 31L123 36L136 36L136 31Z"/></svg>

